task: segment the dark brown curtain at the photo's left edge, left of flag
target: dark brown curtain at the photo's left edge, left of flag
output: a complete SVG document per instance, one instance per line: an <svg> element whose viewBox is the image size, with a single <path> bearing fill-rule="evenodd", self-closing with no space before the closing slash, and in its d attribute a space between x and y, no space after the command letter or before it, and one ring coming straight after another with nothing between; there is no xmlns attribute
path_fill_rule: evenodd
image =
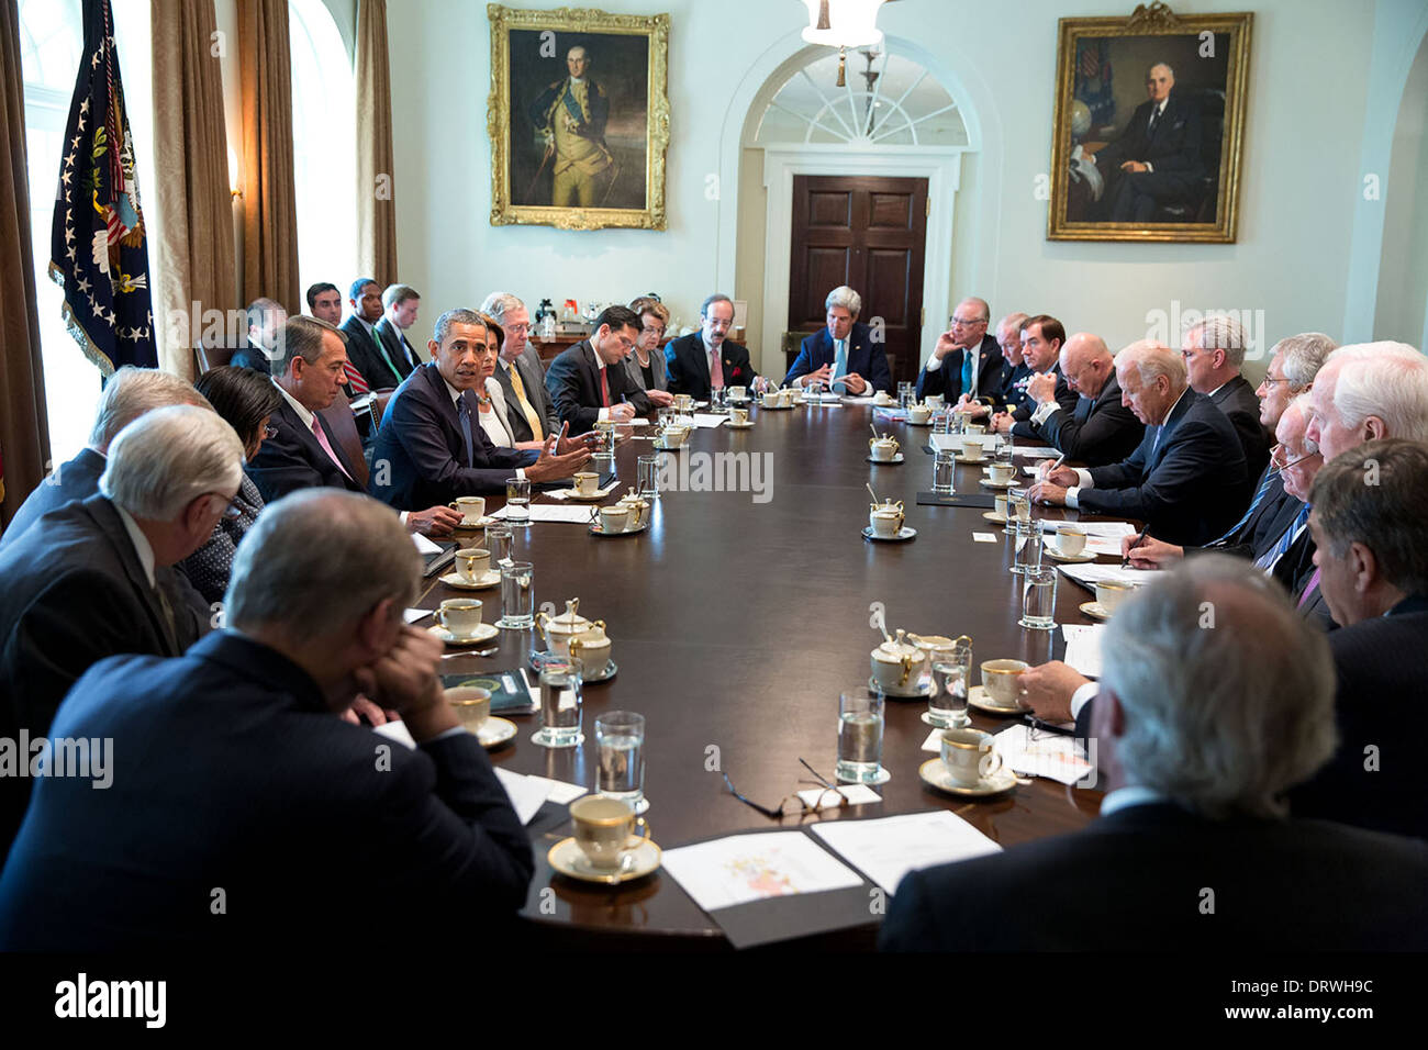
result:
<svg viewBox="0 0 1428 1050"><path fill-rule="evenodd" d="M40 484L50 459L27 171L20 9L16 0L0 0L0 287L7 291L0 310L0 523L6 524Z"/></svg>

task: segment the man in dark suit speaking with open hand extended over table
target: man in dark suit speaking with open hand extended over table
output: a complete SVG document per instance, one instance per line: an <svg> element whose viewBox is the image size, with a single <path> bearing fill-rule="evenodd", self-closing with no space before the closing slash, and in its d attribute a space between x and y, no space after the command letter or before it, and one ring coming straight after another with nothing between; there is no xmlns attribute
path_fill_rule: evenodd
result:
<svg viewBox="0 0 1428 1050"><path fill-rule="evenodd" d="M480 423L480 400L496 367L486 324L474 310L447 310L427 343L431 360L387 403L368 489L398 510L446 504L457 496L504 493L510 477L553 481L590 460L583 441L551 434L541 451L500 449Z"/></svg>

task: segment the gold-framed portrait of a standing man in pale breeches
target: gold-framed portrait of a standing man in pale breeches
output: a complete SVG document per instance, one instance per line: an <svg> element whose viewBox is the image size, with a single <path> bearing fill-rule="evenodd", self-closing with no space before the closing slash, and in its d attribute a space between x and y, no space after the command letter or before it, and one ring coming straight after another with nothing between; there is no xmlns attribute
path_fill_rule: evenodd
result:
<svg viewBox="0 0 1428 1050"><path fill-rule="evenodd" d="M486 10L491 226L665 229L670 16Z"/></svg>

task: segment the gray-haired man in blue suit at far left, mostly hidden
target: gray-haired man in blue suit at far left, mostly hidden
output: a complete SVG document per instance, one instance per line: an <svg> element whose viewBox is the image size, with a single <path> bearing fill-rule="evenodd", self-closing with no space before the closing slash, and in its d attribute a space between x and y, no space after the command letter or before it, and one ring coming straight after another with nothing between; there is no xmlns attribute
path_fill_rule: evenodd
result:
<svg viewBox="0 0 1428 1050"><path fill-rule="evenodd" d="M31 524L73 500L99 491L109 446L120 430L153 409L167 404L211 407L187 380L157 369L126 364L104 381L89 444L69 463L61 463L31 491L0 534L0 550L14 543Z"/></svg>

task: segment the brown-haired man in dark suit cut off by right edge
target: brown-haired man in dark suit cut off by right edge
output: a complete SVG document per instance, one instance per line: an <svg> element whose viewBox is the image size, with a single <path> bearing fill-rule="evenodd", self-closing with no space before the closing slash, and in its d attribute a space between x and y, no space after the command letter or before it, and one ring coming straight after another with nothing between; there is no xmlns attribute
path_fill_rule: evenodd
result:
<svg viewBox="0 0 1428 1050"><path fill-rule="evenodd" d="M1374 479L1365 484L1365 479ZM1297 816L1428 839L1428 774L1385 701L1422 697L1428 651L1428 446L1367 441L1314 479L1315 586L1339 630L1338 751L1289 793Z"/></svg>

